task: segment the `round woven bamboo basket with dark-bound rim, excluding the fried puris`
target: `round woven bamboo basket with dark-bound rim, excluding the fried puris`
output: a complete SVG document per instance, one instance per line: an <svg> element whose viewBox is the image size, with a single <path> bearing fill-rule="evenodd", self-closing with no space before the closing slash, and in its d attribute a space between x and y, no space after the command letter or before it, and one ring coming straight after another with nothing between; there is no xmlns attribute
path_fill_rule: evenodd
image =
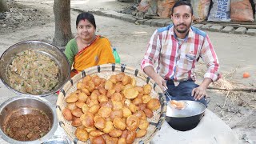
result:
<svg viewBox="0 0 256 144"><path fill-rule="evenodd" d="M71 122L66 121L66 119L63 117L62 110L66 107L66 96L77 90L76 84L82 81L82 78L84 78L88 74L97 74L101 78L108 79L111 75L119 74L121 72L124 72L131 78L135 78L137 86L143 86L146 83L149 83L153 87L150 96L152 98L158 98L161 103L161 108L158 110L154 110L153 118L147 118L147 121L150 122L150 126L147 129L147 134L142 138L136 138L134 143L149 143L150 139L154 137L154 134L156 134L156 132L160 130L162 123L164 122L166 117L166 98L162 93L161 88L150 77L147 77L146 74L144 74L141 70L135 70L133 68L127 67L126 65L105 64L82 70L81 73L76 74L73 78L70 79L69 82L66 82L61 90L61 93L58 94L56 109L59 125L62 126L62 128L66 131L66 134L74 143L90 143L90 141L79 141L78 138L74 136L74 131L76 130L76 128L74 126L71 126Z"/></svg>

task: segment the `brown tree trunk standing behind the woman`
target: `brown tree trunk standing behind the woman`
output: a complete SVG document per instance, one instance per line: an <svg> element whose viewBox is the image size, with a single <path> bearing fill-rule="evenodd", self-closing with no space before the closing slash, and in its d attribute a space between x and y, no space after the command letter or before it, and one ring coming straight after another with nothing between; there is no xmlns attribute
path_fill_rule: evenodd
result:
<svg viewBox="0 0 256 144"><path fill-rule="evenodd" d="M70 0L54 0L55 33L53 44L66 46L73 38L70 26Z"/></svg>

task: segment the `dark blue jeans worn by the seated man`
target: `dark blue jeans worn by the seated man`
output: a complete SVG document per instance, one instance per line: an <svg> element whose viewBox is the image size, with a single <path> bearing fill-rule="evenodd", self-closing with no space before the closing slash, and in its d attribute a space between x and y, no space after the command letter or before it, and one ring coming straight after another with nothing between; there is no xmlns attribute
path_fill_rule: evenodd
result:
<svg viewBox="0 0 256 144"><path fill-rule="evenodd" d="M189 100L189 101L195 101L194 97L191 96L192 90L199 85L194 83L192 80L179 82L178 86L174 86L174 82L172 80L169 80L166 82L166 85L168 87L167 92L172 97L171 100ZM170 101L170 98L166 96L167 102ZM201 98L200 100L197 100L196 102L201 102L205 106L207 106L206 98Z"/></svg>

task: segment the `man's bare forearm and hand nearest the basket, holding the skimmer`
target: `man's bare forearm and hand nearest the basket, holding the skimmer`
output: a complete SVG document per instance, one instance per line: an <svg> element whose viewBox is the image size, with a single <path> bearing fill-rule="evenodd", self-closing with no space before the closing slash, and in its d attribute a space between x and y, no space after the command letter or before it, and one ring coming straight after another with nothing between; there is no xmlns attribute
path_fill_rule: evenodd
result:
<svg viewBox="0 0 256 144"><path fill-rule="evenodd" d="M164 90L164 87L167 89L166 81L154 71L153 66L146 66L144 68L144 72L146 73L146 75L152 78L154 82L157 82L158 86L160 86L162 90Z"/></svg>

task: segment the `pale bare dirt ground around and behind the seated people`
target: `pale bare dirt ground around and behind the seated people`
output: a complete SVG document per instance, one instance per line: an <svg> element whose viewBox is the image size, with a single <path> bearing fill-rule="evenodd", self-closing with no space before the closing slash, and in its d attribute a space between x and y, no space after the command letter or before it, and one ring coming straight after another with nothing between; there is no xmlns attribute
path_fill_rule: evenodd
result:
<svg viewBox="0 0 256 144"><path fill-rule="evenodd" d="M52 42L54 38L53 0L9 0L10 12L0 14L0 54L8 47L25 40ZM71 8L81 10L122 10L132 3L117 0L71 0ZM78 12L71 10L71 26L75 30ZM115 18L95 15L97 33L110 39L116 46L122 63L140 69L140 62L146 52L146 45L157 27L140 26ZM256 41L253 36L222 34L206 31L218 54L223 81L211 86L224 88L256 87ZM206 65L197 67L198 82ZM242 78L243 72L250 78ZM225 81L224 81L225 80ZM0 82L2 94L14 95ZM256 143L256 93L207 90L211 97L209 109L222 118L238 135L241 143ZM1 103L8 97L3 95Z"/></svg>

